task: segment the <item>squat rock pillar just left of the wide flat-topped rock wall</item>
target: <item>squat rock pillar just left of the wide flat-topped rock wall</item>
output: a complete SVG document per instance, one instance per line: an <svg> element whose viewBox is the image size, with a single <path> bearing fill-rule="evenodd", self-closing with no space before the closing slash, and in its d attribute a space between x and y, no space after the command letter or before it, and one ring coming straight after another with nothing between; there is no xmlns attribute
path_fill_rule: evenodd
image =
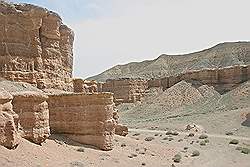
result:
<svg viewBox="0 0 250 167"><path fill-rule="evenodd" d="M14 93L13 96L13 109L19 115L21 136L41 144L50 135L48 96L32 91Z"/></svg>

